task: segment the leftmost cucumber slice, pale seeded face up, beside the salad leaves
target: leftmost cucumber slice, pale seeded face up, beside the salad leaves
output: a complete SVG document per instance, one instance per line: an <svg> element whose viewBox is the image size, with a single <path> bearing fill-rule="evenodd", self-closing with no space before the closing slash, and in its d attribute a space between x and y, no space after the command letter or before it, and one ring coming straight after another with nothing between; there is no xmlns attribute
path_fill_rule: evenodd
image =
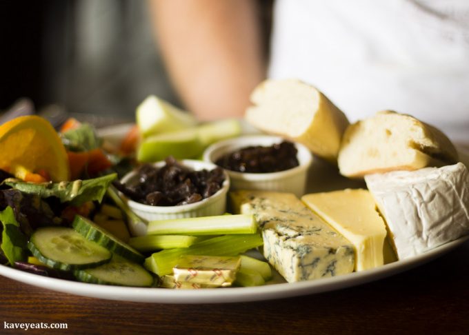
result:
<svg viewBox="0 0 469 335"><path fill-rule="evenodd" d="M32 234L28 249L44 265L66 271L98 266L112 256L105 247L68 227L39 228Z"/></svg>

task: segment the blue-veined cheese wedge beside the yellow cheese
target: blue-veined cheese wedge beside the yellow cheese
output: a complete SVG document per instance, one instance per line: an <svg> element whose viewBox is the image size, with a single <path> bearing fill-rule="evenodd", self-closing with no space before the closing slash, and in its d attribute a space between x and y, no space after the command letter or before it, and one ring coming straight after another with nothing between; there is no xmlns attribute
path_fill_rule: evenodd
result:
<svg viewBox="0 0 469 335"><path fill-rule="evenodd" d="M255 216L263 255L289 283L353 271L353 245L294 194L237 191L230 199L232 210Z"/></svg>

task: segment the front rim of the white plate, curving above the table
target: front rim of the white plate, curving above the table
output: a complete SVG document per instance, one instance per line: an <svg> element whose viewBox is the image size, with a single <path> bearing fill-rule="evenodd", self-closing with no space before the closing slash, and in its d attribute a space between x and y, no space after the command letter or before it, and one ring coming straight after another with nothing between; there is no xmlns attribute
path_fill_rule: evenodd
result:
<svg viewBox="0 0 469 335"><path fill-rule="evenodd" d="M339 290L346 287L377 281L378 279L409 270L434 258L446 254L469 240L469 236L459 238L419 256L383 265L372 270L353 272L332 278L281 283L258 287L229 287L202 290L172 290L164 288L119 287L78 283L63 279L48 278L30 274L0 265L0 274L15 281L43 287L49 290L120 301L139 303L239 303L268 299L288 298L305 294L316 294Z"/></svg>

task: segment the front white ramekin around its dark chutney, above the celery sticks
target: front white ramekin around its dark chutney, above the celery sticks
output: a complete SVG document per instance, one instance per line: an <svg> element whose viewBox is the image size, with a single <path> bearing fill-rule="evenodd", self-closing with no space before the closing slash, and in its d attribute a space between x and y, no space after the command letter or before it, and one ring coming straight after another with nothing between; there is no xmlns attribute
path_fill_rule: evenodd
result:
<svg viewBox="0 0 469 335"><path fill-rule="evenodd" d="M214 165L213 163L194 161L190 159L183 159L179 161L179 163L186 167L190 167L192 170L213 170L217 167L217 165ZM161 161L154 163L153 165L155 167L162 167L165 165L165 162ZM135 171L129 172L126 176L123 176L121 182L127 183L134 179L136 175L137 172ZM144 205L143 203L137 203L137 201L132 201L123 196L123 194L121 194L121 197L126 201L132 212L146 221L181 219L224 214L226 212L226 194L228 193L229 188L230 177L225 172L225 181L223 181L221 189L207 199L197 201L197 203L189 203L188 205L179 206L150 206ZM139 232L139 234L142 233Z"/></svg>

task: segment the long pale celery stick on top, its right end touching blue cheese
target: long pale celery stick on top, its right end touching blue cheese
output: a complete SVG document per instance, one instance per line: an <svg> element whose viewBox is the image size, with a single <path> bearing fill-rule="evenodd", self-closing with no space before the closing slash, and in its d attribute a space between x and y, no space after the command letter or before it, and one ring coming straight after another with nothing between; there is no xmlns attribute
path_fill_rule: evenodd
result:
<svg viewBox="0 0 469 335"><path fill-rule="evenodd" d="M147 234L221 235L254 234L256 231L254 216L237 214L150 221Z"/></svg>

